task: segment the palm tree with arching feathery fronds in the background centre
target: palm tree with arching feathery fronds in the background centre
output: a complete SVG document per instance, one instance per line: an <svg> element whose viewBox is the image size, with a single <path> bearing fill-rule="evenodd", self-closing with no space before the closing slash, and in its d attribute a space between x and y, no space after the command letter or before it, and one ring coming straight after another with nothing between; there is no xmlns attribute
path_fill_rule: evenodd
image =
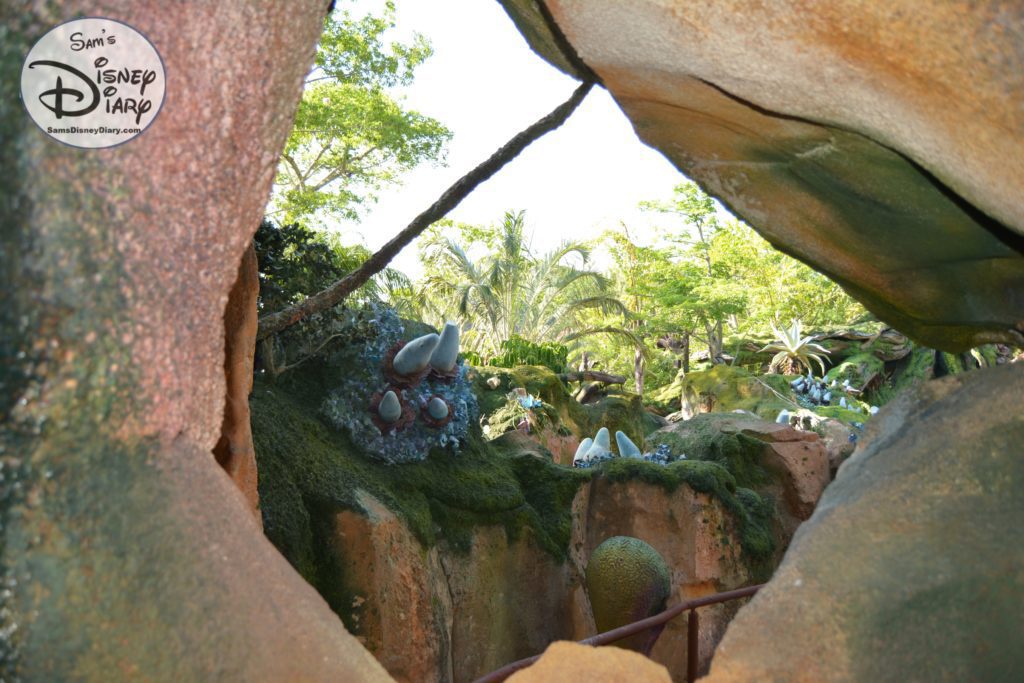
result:
<svg viewBox="0 0 1024 683"><path fill-rule="evenodd" d="M424 254L431 274L420 288L424 317L458 318L463 346L484 356L499 353L513 335L537 343L567 343L598 333L631 337L624 329L584 325L581 313L587 309L627 313L610 294L608 279L586 267L585 245L566 242L534 256L521 211L506 212L496 238L494 252L477 260L453 240L437 238L428 245Z"/></svg>

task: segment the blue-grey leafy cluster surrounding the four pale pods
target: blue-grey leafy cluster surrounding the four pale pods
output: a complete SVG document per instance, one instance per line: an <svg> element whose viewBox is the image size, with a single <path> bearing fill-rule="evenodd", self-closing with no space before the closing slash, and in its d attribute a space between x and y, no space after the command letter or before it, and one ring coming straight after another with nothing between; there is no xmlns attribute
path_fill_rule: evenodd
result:
<svg viewBox="0 0 1024 683"><path fill-rule="evenodd" d="M382 432L375 424L370 403L375 393L387 391L388 381L382 368L388 350L401 340L404 329L391 308L372 307L377 336L366 344L338 351L332 365L347 372L339 386L324 401L324 416L339 429L348 432L353 444L364 453L388 464L425 460L431 449L458 453L465 442L469 425L477 419L476 396L466 378L466 366L460 359L451 381L428 377L414 387L401 389L401 398L412 404L416 421L401 430ZM432 427L420 417L420 411L433 396L441 396L452 409L452 420L443 427Z"/></svg>

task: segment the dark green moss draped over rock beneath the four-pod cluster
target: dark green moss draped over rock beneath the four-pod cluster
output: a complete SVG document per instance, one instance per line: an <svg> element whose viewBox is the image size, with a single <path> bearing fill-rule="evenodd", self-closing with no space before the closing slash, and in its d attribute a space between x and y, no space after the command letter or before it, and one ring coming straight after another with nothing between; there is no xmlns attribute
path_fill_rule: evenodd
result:
<svg viewBox="0 0 1024 683"><path fill-rule="evenodd" d="M329 532L313 520L361 511L359 489L398 514L424 546L444 539L468 550L476 525L503 524L514 537L526 524L545 550L564 557L570 504L588 472L524 453L521 442L488 443L478 432L455 457L431 453L400 466L364 458L317 418L309 383L322 374L307 371L274 386L257 382L250 401L266 535L303 577L316 585L323 558L315 548Z"/></svg>

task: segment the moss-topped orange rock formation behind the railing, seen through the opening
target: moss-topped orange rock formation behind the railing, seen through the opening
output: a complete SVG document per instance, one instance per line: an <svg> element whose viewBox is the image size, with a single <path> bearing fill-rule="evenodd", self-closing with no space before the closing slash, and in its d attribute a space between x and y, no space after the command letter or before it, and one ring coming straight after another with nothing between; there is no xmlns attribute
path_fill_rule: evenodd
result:
<svg viewBox="0 0 1024 683"><path fill-rule="evenodd" d="M611 537L666 559L670 604L762 581L813 506L810 464L827 477L816 435L736 415L696 418L703 429L688 441L685 423L672 425L693 459L668 465L616 457L573 469L531 435L486 440L478 429L457 457L435 450L387 465L308 410L318 403L309 387L332 387L350 368L310 360L293 372L288 384L257 380L251 401L266 533L399 680L468 681L594 635L584 575ZM480 391L486 408L492 390ZM737 444L734 462L696 457ZM739 604L701 611L701 668ZM677 621L652 656L684 672L685 643Z"/></svg>

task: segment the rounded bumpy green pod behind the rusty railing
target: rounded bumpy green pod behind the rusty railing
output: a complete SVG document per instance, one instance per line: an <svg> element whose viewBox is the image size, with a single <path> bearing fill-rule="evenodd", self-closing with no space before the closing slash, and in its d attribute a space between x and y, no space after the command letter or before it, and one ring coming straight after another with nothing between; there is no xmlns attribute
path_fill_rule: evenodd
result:
<svg viewBox="0 0 1024 683"><path fill-rule="evenodd" d="M650 545L629 536L612 537L594 549L586 580L599 633L663 611L672 593L669 565ZM615 645L647 653L660 632L656 627Z"/></svg>

